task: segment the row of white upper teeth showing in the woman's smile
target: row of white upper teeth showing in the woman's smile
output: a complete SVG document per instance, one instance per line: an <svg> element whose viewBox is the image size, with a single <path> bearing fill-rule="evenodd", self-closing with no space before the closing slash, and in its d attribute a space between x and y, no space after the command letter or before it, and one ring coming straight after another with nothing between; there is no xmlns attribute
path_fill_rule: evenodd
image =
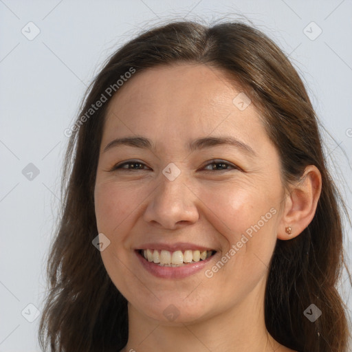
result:
<svg viewBox="0 0 352 352"><path fill-rule="evenodd" d="M192 261L203 261L212 255L212 251L185 250L181 252L177 250L175 252L169 252L168 250L144 250L143 254L145 259L159 265L180 265L183 263L192 263Z"/></svg>

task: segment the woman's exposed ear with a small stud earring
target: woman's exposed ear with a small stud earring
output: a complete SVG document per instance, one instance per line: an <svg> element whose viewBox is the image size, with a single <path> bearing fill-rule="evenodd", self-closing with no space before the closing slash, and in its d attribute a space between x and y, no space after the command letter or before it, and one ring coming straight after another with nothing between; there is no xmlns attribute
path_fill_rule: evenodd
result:
<svg viewBox="0 0 352 352"><path fill-rule="evenodd" d="M285 197L285 207L278 225L278 239L292 239L300 234L316 213L316 206L322 189L322 177L316 166L309 165L297 184ZM291 228L291 234L286 228Z"/></svg>

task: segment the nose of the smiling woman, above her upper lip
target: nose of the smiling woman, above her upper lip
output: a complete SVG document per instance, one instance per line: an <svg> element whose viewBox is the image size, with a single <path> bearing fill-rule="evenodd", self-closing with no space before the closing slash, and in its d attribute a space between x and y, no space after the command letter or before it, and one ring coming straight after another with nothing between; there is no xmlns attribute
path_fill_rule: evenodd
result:
<svg viewBox="0 0 352 352"><path fill-rule="evenodd" d="M164 175L160 176L159 185L153 191L144 212L144 221L175 230L180 225L192 224L199 219L199 198L181 175L173 181Z"/></svg>

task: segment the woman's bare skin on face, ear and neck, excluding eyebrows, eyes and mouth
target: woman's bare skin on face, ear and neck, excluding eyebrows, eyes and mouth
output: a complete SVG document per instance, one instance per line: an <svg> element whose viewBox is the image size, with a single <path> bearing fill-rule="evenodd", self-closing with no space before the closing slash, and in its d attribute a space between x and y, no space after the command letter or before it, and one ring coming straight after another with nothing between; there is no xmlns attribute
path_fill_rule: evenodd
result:
<svg viewBox="0 0 352 352"><path fill-rule="evenodd" d="M124 352L293 351L267 333L265 282L277 239L298 236L313 219L321 177L308 166L303 181L285 190L278 152L254 104L241 111L232 102L239 91L219 69L182 63L135 74L109 103L94 197L98 231L111 241L102 261L129 301ZM156 150L103 152L111 140L133 135ZM186 149L210 135L230 135L255 155L226 145ZM111 170L131 159L144 165ZM212 170L212 159L239 168ZM173 181L162 173L170 162L181 171ZM211 278L205 271L213 261L187 278L157 278L133 251L147 241L190 242L217 250L219 261L272 208L276 214ZM170 304L179 313L173 321L163 314Z"/></svg>

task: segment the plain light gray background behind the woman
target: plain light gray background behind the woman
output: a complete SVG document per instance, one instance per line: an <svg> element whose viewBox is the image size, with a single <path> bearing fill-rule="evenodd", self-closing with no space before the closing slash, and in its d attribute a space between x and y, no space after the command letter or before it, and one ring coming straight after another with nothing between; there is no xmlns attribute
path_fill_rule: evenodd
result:
<svg viewBox="0 0 352 352"><path fill-rule="evenodd" d="M39 318L26 318L35 318L29 304L43 307L67 145L63 131L102 62L140 28L160 21L243 16L281 46L303 77L333 137L327 135L327 154L351 212L351 0L0 0L0 352L39 351ZM40 30L31 41L21 32L35 34L30 21ZM32 180L22 173L30 163L39 169ZM347 254L350 239L346 224ZM351 311L346 278L344 272L340 292Z"/></svg>

